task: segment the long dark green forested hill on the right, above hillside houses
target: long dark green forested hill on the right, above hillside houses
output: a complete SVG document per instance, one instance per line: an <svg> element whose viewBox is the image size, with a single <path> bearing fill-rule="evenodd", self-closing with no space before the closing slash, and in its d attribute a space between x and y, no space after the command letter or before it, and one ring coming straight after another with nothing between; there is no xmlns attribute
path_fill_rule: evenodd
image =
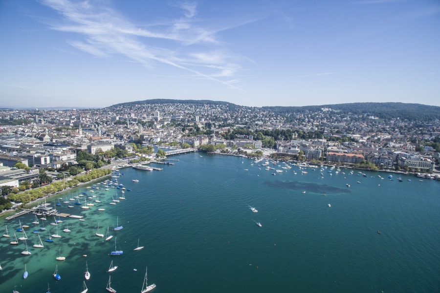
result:
<svg viewBox="0 0 440 293"><path fill-rule="evenodd" d="M333 105L301 106L301 107L284 107L284 106L263 107L263 109L265 110L271 110L281 115L288 113L316 112L316 111L320 111L321 108L330 108L332 110L339 110L343 113L370 114L384 119L400 118L400 119L420 120L420 121L440 119L440 107L421 105L421 104L350 103L350 104L333 104Z"/></svg>

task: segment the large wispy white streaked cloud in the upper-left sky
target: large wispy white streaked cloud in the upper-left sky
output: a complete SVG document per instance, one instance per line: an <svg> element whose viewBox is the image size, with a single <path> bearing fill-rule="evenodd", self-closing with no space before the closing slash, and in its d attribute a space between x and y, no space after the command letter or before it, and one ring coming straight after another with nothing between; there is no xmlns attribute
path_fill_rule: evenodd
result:
<svg viewBox="0 0 440 293"><path fill-rule="evenodd" d="M223 78L237 74L242 70L240 63L247 61L227 51L216 34L249 21L237 22L235 26L213 27L194 19L197 15L195 2L177 3L175 6L181 8L184 15L160 24L135 24L109 7L97 7L88 1L42 2L63 16L62 21L52 23L50 28L82 35L82 40L69 39L66 42L96 57L122 55L149 69L157 63L167 64L188 71L195 77L233 88L236 88L235 82Z"/></svg>

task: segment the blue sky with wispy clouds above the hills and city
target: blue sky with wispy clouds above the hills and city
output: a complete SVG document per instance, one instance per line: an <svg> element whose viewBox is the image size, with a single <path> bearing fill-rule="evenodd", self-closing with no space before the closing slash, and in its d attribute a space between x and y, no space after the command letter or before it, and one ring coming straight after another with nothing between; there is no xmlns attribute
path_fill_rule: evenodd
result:
<svg viewBox="0 0 440 293"><path fill-rule="evenodd" d="M0 106L440 101L438 0L3 0Z"/></svg>

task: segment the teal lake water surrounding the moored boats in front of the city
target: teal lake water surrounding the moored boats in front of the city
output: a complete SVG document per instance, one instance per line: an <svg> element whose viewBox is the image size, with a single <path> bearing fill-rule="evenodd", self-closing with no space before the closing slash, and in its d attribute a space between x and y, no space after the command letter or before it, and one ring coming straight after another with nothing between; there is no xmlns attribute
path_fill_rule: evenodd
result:
<svg viewBox="0 0 440 293"><path fill-rule="evenodd" d="M31 247L38 241L30 224L35 216L20 217L30 226L32 255L20 254L22 241L11 246L10 238L0 238L0 292L12 292L16 284L21 293L44 293L49 283L52 293L79 293L86 260L89 292L106 292L111 260L118 266L111 273L112 287L120 293L140 292L146 266L157 293L440 291L439 182L413 176L402 176L403 182L380 180L378 172L363 177L357 171L349 175L348 169L332 176L325 170L323 178L319 170L301 174L297 167L272 175L273 170L257 166L261 163L252 166L239 157L192 153L176 158L174 166L157 166L162 171L121 169L119 182L132 188L125 202L109 205L117 189L95 189L100 205L86 211L57 207L86 221L63 219L58 231L63 237L44 242L44 249ZM98 223L101 233L111 230L117 216L124 229L111 234L124 254L110 256L114 238L105 242L93 234ZM51 219L46 222L55 233ZM18 228L18 219L2 223L11 235ZM62 231L66 225L70 233ZM133 251L138 238L145 248ZM59 249L64 262L55 260ZM52 277L57 264L58 282Z"/></svg>

